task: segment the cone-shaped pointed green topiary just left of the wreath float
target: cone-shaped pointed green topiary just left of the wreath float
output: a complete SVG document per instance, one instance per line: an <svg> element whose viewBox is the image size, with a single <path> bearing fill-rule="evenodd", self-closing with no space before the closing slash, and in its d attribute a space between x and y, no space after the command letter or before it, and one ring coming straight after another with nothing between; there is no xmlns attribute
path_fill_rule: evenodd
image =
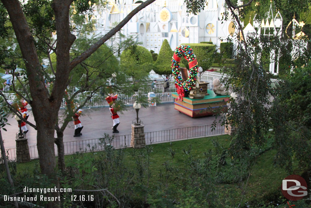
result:
<svg viewBox="0 0 311 208"><path fill-rule="evenodd" d="M156 60L155 63L155 69L154 71L159 74L159 75L165 75L165 76L169 76L170 74L172 74L172 56L173 56L174 52L171 49L171 46L169 46L169 42L164 39L160 52L159 52L159 56Z"/></svg>

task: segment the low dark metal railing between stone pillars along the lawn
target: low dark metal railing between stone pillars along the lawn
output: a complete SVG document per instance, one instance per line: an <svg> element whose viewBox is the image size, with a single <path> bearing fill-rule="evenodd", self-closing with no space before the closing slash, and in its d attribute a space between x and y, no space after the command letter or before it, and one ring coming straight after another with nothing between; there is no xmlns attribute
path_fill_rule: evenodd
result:
<svg viewBox="0 0 311 208"><path fill-rule="evenodd" d="M162 131L145 132L146 144L165 143L177 140L192 139L208 137L213 135L225 134L225 127L220 123L216 124L212 129L212 124L202 126L192 126L184 128L175 128ZM131 147L131 134L113 136L113 139L108 145L113 146L115 149ZM57 146L55 148L55 155L57 155ZM99 138L76 140L71 142L64 142L65 154L74 154L76 152L91 152L102 151L104 146ZM7 156L10 160L16 160L16 148L7 149ZM37 146L29 146L30 159L36 159L39 157Z"/></svg>

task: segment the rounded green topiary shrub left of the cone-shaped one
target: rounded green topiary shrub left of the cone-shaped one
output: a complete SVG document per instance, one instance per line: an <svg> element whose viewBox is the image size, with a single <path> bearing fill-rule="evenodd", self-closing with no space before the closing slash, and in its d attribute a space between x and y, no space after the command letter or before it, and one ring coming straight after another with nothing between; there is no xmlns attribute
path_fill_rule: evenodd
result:
<svg viewBox="0 0 311 208"><path fill-rule="evenodd" d="M150 51L142 46L132 46L124 50L120 63L126 74L135 76L139 73L149 73L153 69L153 59Z"/></svg>

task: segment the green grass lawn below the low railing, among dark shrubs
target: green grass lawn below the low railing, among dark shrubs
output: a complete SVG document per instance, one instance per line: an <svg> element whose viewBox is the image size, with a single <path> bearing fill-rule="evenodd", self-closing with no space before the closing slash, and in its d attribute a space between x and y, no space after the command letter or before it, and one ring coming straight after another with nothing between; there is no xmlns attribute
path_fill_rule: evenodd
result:
<svg viewBox="0 0 311 208"><path fill-rule="evenodd" d="M158 175L160 174L160 170L163 172L164 163L167 161L172 162L175 167L183 167L184 161L186 160L186 155L183 152L183 149L188 149L189 145L192 148L192 155L196 159L204 159L204 152L207 152L210 149L214 149L212 140L217 140L220 145L227 149L230 144L230 136L229 135L221 135L215 137L207 137L207 138L197 138L197 139L189 139L176 141L171 143L160 143L160 144L152 144L150 145L153 148L153 152L151 153L151 163L150 163L150 171L151 178L149 186L151 189L154 189L158 186ZM172 148L176 151L174 155L174 159L171 157L171 153L169 152L169 148ZM125 158L124 162L126 167L135 167L135 161L131 156L133 149L127 148L125 150ZM145 151L145 149L138 149L137 153ZM244 179L244 186L247 183L247 188L245 195L242 195L242 191L240 189L241 184L239 183L218 183L216 190L218 192L219 198L218 203L221 206L231 206L238 205L240 202L253 202L259 203L269 203L267 199L275 199L279 196L282 196L280 187L281 181L284 177L286 177L286 172L278 167L273 166L273 157L275 155L274 150L268 150L262 153L257 160L257 164L254 165L253 171L249 180ZM87 155L94 155L97 157L96 153L86 153ZM65 161L66 163L71 161L74 155L66 155ZM226 159L227 162L230 162L230 158ZM22 163L17 165L18 172L33 172L35 169L35 164L38 166L38 160L33 160L29 163ZM228 164L227 164L228 166ZM36 168L38 169L38 167ZM182 171L182 168L181 168Z"/></svg>

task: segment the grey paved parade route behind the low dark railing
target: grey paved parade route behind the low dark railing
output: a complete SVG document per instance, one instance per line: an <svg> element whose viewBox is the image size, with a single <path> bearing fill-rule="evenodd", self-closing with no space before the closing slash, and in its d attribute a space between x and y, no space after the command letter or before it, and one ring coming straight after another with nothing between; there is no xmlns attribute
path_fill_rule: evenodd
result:
<svg viewBox="0 0 311 208"><path fill-rule="evenodd" d="M59 115L63 114L63 110L59 111ZM74 134L74 125L73 122L69 122L67 128L64 131L64 142L85 140L85 139L94 139L100 138L104 133L112 134L112 119L110 116L109 108L92 108L83 110L80 121L84 128L81 133L81 137L73 137ZM131 123L132 120L136 119L136 111L133 107L128 107L127 111L123 111L123 114L118 113L120 116L120 124L118 130L120 133L116 135L126 135L131 134ZM205 116L201 118L191 118L188 115L179 113L179 111L174 109L174 103L158 104L156 107L147 107L139 110L139 118L145 125L145 132L153 132L174 128L183 128L191 126L200 126L211 124L215 116ZM34 118L32 112L28 120L32 123ZM2 138L4 139L4 146L6 149L15 148L16 142L16 132L18 132L17 121L12 115L8 118L8 123L5 128L7 132L1 131ZM26 125L29 132L27 133L28 145L37 144L37 132L34 128ZM55 133L56 137L56 133Z"/></svg>

